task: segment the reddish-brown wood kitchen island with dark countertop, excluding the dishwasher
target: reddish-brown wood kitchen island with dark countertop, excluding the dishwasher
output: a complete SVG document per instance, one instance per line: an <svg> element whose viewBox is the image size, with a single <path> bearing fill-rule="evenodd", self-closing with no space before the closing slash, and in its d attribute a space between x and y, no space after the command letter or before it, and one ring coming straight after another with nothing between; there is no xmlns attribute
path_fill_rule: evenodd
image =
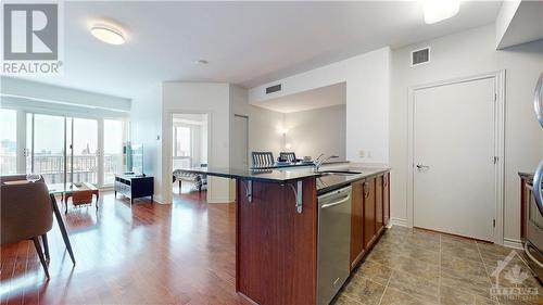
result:
<svg viewBox="0 0 543 305"><path fill-rule="evenodd" d="M236 179L236 290L257 304L323 303L317 270L319 195L352 188L348 270L367 254L390 218L389 168L346 164L320 173L313 168L181 170ZM337 291L343 282L333 284Z"/></svg>

